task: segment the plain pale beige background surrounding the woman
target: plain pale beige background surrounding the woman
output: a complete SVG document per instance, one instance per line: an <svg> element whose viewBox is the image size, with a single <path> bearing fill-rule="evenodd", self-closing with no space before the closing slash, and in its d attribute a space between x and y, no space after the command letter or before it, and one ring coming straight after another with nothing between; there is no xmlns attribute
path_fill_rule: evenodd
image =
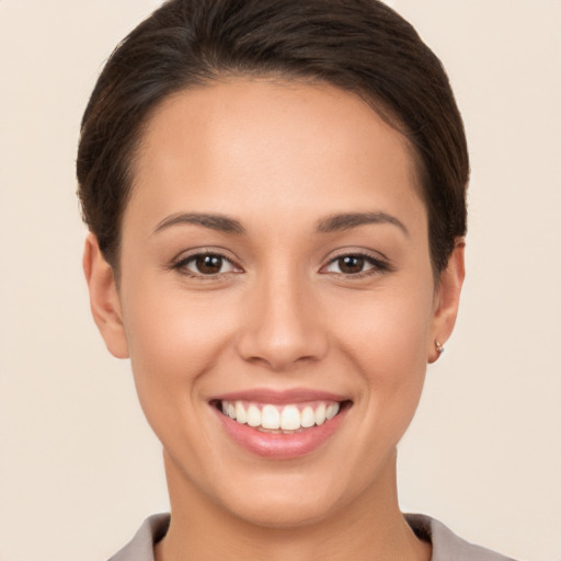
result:
<svg viewBox="0 0 561 561"><path fill-rule="evenodd" d="M459 324L401 445L404 508L561 559L561 1L394 0L472 154ZM0 560L100 561L167 508L159 445L89 316L81 112L156 0L0 0Z"/></svg>

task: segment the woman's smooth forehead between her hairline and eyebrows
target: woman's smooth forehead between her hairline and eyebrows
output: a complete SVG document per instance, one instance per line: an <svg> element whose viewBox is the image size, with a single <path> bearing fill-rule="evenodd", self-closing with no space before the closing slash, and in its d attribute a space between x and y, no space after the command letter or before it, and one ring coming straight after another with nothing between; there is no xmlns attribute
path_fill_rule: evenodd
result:
<svg viewBox="0 0 561 561"><path fill-rule="evenodd" d="M289 216L302 206L397 213L420 204L405 137L360 98L238 79L179 92L154 111L125 221L133 211L156 220L180 210Z"/></svg>

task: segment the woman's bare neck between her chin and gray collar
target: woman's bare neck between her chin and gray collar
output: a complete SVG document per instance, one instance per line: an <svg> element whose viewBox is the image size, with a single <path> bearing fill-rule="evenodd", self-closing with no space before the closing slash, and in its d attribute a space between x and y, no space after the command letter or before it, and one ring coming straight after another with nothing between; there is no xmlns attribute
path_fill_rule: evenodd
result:
<svg viewBox="0 0 561 561"><path fill-rule="evenodd" d="M428 561L431 546L420 541L398 505L396 456L351 504L330 516L295 526L271 527L233 515L198 492L165 458L171 523L156 547L157 561L216 559L268 561Z"/></svg>

